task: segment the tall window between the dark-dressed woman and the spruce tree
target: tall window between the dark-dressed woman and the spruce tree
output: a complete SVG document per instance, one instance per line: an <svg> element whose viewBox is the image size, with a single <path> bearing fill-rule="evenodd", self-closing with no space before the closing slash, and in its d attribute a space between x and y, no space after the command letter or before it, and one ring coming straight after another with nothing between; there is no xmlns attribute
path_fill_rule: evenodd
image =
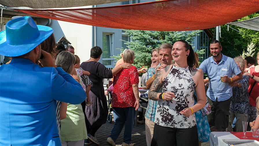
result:
<svg viewBox="0 0 259 146"><path fill-rule="evenodd" d="M114 58L112 56L112 34L103 33L103 65L106 67L112 67L112 61Z"/></svg>

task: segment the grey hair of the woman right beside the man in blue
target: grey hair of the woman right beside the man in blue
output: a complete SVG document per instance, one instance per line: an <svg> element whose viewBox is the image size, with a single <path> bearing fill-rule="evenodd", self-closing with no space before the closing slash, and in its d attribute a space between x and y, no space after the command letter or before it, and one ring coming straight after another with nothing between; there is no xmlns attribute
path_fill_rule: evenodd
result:
<svg viewBox="0 0 259 146"><path fill-rule="evenodd" d="M71 70L74 67L74 63L75 56L69 51L60 52L55 62L56 66L62 67L62 69L67 73L71 73Z"/></svg>

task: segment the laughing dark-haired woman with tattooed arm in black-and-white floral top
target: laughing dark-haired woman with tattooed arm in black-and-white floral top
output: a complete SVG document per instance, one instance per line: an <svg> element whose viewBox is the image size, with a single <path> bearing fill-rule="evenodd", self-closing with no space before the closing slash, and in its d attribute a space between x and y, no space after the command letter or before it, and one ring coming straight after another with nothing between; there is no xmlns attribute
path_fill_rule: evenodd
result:
<svg viewBox="0 0 259 146"><path fill-rule="evenodd" d="M188 42L175 42L171 54L175 63L158 71L149 89L149 99L158 100L151 146L198 146L193 113L206 104L202 73L191 68L195 56ZM162 93L159 93L160 88ZM194 91L197 95L196 104Z"/></svg>

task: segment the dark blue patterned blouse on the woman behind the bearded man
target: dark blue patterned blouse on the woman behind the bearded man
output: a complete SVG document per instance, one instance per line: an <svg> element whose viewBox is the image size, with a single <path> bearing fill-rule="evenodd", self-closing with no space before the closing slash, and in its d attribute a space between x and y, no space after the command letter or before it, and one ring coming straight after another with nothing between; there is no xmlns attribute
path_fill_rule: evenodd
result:
<svg viewBox="0 0 259 146"><path fill-rule="evenodd" d="M241 83L241 88L233 87L233 97L231 98L229 110L240 114L249 114L249 94L248 94L248 82L249 76L243 75L243 78L237 82Z"/></svg>

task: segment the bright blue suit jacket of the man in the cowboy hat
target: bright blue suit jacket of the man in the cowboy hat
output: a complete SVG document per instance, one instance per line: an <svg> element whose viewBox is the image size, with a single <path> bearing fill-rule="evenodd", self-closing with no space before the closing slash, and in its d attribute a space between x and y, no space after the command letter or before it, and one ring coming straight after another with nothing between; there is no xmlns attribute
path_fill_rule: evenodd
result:
<svg viewBox="0 0 259 146"><path fill-rule="evenodd" d="M14 58L0 67L0 145L60 145L56 101L80 104L82 86L61 67Z"/></svg>

